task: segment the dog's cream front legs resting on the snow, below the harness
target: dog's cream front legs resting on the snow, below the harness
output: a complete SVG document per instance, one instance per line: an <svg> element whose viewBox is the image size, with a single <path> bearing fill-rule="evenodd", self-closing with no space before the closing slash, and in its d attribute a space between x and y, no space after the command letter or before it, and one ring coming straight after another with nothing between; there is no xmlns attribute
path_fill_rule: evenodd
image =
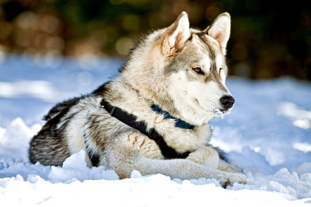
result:
<svg viewBox="0 0 311 207"><path fill-rule="evenodd" d="M245 183L244 175L217 169L219 157L216 150L212 148L207 147L198 152L192 152L189 159L161 159L162 155L158 146L139 132L124 134L116 140L115 143L106 146L101 162L107 169L115 170L120 179L130 177L133 170L138 170L142 175L160 173L179 179L214 178L223 186L236 182ZM201 159L200 155L205 156Z"/></svg>

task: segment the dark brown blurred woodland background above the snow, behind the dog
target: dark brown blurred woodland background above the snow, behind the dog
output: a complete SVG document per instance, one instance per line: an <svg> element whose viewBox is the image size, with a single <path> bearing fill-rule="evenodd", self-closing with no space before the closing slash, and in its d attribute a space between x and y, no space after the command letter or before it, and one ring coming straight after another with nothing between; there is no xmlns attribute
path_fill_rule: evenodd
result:
<svg viewBox="0 0 311 207"><path fill-rule="evenodd" d="M0 55L126 57L138 37L186 11L205 29L232 15L231 75L311 80L311 1L0 0Z"/></svg>

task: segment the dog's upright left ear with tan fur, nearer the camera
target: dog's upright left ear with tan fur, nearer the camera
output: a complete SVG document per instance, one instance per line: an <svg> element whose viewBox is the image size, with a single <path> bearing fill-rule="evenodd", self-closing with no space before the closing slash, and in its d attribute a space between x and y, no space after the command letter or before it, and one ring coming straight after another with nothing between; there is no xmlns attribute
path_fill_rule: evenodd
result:
<svg viewBox="0 0 311 207"><path fill-rule="evenodd" d="M176 21L165 30L162 35L162 52L167 57L180 51L190 37L189 19L186 12L182 12Z"/></svg>

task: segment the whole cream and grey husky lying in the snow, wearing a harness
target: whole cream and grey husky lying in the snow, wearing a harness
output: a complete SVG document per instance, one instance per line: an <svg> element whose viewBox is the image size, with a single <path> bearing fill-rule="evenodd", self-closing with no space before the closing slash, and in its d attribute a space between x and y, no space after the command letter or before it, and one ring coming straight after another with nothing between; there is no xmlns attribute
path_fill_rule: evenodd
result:
<svg viewBox="0 0 311 207"><path fill-rule="evenodd" d="M62 166L80 150L88 166L172 178L245 183L241 170L209 145L209 120L230 112L225 86L230 16L205 30L189 28L186 12L144 37L113 80L90 95L58 103L32 138L30 161Z"/></svg>

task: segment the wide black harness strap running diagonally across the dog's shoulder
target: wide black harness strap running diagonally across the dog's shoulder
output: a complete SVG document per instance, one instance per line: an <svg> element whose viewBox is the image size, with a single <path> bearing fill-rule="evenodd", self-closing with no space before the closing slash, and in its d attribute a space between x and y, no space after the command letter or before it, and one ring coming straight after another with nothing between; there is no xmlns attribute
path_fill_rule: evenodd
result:
<svg viewBox="0 0 311 207"><path fill-rule="evenodd" d="M109 112L112 117L115 117L119 121L122 121L124 124L131 126L131 128L139 130L150 139L153 139L153 141L156 141L156 144L158 144L161 153L165 157L165 159L185 159L186 157L188 157L190 152L184 152L180 154L170 146L167 146L167 143L164 141L162 135L160 135L154 128L147 130L147 125L144 124L143 121L136 121L138 117L131 115L128 112L125 112L121 108L111 106L104 99L100 101L100 105L107 112Z"/></svg>

